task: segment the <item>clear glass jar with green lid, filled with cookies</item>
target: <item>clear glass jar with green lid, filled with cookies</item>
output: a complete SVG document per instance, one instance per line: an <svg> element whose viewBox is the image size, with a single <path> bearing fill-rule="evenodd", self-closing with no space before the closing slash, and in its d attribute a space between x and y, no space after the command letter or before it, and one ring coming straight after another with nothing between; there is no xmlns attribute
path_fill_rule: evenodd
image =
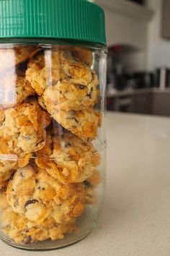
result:
<svg viewBox="0 0 170 256"><path fill-rule="evenodd" d="M22 27L17 36L12 27L8 36L0 33L0 235L22 249L55 249L84 238L96 226L104 197L107 50L102 35L69 38L65 27L59 37L52 24L44 32L40 23L42 13L45 19L53 9L59 12L56 4L67 12L74 4L86 15L88 7L91 15L99 12L98 20L103 11L85 0L64 0L63 6L62 1L51 1L50 9L40 12L22 0L19 13L13 9L10 15L18 19L24 8L36 11L33 22L39 21L42 32L26 36ZM48 0L36 2L42 8ZM11 7L12 1L6 4Z"/></svg>

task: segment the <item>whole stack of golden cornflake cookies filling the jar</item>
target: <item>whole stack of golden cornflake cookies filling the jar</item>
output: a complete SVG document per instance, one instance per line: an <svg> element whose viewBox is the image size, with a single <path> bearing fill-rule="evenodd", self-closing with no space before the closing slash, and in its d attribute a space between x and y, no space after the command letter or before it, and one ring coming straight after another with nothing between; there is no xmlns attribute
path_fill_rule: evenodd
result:
<svg viewBox="0 0 170 256"><path fill-rule="evenodd" d="M95 202L99 80L81 48L0 49L1 231L63 239Z"/></svg>

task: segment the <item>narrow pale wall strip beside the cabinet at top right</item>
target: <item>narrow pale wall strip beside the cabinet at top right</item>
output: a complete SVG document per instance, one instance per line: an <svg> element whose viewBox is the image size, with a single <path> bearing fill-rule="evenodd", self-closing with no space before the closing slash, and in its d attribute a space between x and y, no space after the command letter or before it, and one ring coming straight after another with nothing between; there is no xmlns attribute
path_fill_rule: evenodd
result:
<svg viewBox="0 0 170 256"><path fill-rule="evenodd" d="M161 38L161 0L148 0L148 6L155 12L148 25L148 69L170 67L170 40Z"/></svg>

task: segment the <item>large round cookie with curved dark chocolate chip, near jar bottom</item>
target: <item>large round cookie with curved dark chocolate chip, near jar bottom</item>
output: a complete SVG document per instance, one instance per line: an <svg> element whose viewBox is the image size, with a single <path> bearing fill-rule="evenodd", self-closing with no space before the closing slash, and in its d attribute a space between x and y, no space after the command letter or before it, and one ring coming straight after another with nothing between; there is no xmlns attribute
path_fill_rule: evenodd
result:
<svg viewBox="0 0 170 256"><path fill-rule="evenodd" d="M15 213L40 226L47 218L64 223L81 216L85 207L84 184L61 184L47 171L19 168L6 189L6 198Z"/></svg>

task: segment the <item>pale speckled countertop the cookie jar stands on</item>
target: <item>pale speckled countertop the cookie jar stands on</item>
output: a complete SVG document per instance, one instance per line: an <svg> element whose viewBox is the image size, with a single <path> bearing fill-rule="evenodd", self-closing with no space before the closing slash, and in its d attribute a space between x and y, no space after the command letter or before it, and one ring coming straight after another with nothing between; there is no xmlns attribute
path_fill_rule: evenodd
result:
<svg viewBox="0 0 170 256"><path fill-rule="evenodd" d="M170 119L108 114L107 192L86 239L50 252L0 242L0 256L169 256Z"/></svg>

